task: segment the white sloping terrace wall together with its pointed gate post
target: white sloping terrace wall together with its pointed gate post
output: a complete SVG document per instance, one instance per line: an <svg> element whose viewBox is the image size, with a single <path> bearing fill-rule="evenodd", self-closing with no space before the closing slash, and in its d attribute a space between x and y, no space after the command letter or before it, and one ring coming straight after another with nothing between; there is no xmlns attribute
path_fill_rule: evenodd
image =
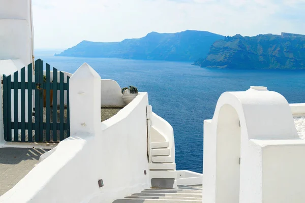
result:
<svg viewBox="0 0 305 203"><path fill-rule="evenodd" d="M0 202L112 202L148 188L147 93L101 123L100 87L101 79L89 65L76 71L69 90L71 137Z"/></svg>

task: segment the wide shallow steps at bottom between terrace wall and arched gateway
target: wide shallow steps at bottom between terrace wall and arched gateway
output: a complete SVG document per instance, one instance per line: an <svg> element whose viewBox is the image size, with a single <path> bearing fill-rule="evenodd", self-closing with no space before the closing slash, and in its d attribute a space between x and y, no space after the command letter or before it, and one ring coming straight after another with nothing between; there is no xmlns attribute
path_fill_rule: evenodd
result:
<svg viewBox="0 0 305 203"><path fill-rule="evenodd" d="M202 186L178 185L177 189L146 189L113 203L199 203L202 202Z"/></svg>

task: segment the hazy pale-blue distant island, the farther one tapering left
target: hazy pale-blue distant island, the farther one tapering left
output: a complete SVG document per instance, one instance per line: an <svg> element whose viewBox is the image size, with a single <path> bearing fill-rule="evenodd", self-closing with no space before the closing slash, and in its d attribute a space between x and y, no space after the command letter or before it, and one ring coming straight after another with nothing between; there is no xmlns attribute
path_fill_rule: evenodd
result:
<svg viewBox="0 0 305 203"><path fill-rule="evenodd" d="M121 42L82 41L55 56L106 57L142 60L192 61L206 57L210 46L224 36L208 31L150 32L140 39Z"/></svg>

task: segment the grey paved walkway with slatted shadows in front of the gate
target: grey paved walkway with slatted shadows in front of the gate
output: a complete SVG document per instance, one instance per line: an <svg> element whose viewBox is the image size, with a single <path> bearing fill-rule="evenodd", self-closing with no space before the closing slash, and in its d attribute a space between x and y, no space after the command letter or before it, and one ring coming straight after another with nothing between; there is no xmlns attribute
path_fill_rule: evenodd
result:
<svg viewBox="0 0 305 203"><path fill-rule="evenodd" d="M0 148L0 196L14 187L50 149Z"/></svg>

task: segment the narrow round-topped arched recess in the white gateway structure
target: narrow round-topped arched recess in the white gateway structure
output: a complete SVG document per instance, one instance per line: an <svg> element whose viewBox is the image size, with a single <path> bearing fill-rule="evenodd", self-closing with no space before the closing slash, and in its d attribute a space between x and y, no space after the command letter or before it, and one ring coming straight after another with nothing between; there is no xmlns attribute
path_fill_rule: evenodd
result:
<svg viewBox="0 0 305 203"><path fill-rule="evenodd" d="M216 202L239 202L240 126L238 114L231 105L220 109L216 150Z"/></svg>

